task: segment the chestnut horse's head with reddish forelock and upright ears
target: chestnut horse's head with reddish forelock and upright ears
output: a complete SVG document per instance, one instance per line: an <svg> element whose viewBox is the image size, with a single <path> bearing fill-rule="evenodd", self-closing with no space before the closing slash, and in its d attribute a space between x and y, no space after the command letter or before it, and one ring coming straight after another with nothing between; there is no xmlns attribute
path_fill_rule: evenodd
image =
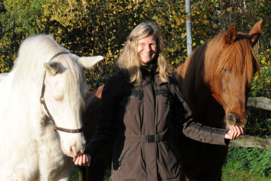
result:
<svg viewBox="0 0 271 181"><path fill-rule="evenodd" d="M204 82L223 106L228 128L231 125L244 127L247 123L248 93L253 75L259 71L253 46L260 37L261 22L256 23L249 34L238 33L236 24L231 25L226 33L207 44ZM215 61L209 61L211 59Z"/></svg>

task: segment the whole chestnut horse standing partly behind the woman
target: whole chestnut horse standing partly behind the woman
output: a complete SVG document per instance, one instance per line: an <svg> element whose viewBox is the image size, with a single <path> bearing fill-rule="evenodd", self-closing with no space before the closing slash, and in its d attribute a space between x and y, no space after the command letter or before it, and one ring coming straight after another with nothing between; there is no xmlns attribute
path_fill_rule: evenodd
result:
<svg viewBox="0 0 271 181"><path fill-rule="evenodd" d="M195 122L224 129L245 126L248 93L253 75L259 72L253 46L260 37L261 22L249 34L237 32L236 24L231 25L226 32L194 50L173 73ZM95 132L101 89L86 102L83 122L91 123L85 127L87 139ZM176 143L186 180L221 180L227 147L192 140L180 130L178 134ZM87 180L103 180L105 168L110 167L111 150L104 151L93 167L86 167ZM82 169L86 178L86 170Z"/></svg>

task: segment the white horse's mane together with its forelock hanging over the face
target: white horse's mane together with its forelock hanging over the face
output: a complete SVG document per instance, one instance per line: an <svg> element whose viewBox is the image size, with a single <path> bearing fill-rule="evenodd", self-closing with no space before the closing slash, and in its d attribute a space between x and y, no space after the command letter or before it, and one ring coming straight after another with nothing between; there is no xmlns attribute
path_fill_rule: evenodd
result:
<svg viewBox="0 0 271 181"><path fill-rule="evenodd" d="M23 50L23 51L22 51ZM38 50L38 51L36 51ZM36 35L27 38L20 46L18 57L15 60L12 71L14 71L13 88L18 89L18 86L27 86L26 82L39 85L42 89L42 83L45 73L44 63L49 62L52 57L60 52L70 53L63 46L57 44L50 35ZM67 69L67 84L68 96L74 100L74 95L80 94L80 81L84 79L82 68L71 61L66 54L59 55L58 61L61 62ZM35 76L33 76L35 75ZM78 86L75 86L78 85ZM81 95L81 94L80 94ZM84 103L81 97L81 104ZM73 102L70 102L73 103Z"/></svg>

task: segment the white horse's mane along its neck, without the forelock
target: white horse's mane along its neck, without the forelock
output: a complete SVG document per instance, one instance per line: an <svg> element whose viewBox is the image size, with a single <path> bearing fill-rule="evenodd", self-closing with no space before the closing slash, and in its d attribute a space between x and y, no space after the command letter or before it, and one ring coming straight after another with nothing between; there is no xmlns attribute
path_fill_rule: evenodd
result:
<svg viewBox="0 0 271 181"><path fill-rule="evenodd" d="M12 71L15 71L13 83L31 81L42 84L45 73L44 63L63 51L63 47L58 45L50 35L40 34L25 39L20 45L18 57L12 68Z"/></svg>

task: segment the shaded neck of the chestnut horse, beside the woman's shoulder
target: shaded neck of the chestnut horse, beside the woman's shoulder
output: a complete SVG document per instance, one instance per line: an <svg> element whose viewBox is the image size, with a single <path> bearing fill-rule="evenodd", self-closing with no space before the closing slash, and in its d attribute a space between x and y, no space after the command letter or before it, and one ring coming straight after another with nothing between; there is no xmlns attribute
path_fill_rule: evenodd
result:
<svg viewBox="0 0 271 181"><path fill-rule="evenodd" d="M192 111L193 119L206 126L224 128L224 109L204 83L204 60L191 55L178 67L176 77L180 90ZM197 64L197 66L195 66Z"/></svg>

